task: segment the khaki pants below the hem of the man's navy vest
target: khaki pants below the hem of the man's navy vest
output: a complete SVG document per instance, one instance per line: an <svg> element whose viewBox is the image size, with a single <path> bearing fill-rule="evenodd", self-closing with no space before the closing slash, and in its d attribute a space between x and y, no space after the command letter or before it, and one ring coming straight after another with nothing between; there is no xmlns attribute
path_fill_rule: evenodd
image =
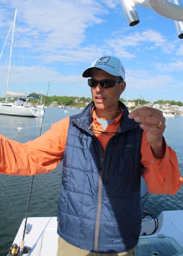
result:
<svg viewBox="0 0 183 256"><path fill-rule="evenodd" d="M56 256L135 256L135 248L128 252L120 253L95 253L79 249L65 242L61 237L58 239L58 251Z"/></svg>

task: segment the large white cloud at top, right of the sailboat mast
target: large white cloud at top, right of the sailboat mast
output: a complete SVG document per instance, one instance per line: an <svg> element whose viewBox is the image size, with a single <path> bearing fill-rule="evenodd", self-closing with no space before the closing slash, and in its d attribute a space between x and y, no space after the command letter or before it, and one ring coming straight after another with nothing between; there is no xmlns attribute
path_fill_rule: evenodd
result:
<svg viewBox="0 0 183 256"><path fill-rule="evenodd" d="M38 0L32 5L32 1L19 0L7 4L18 8L27 47L37 53L54 54L60 49L79 47L86 28L102 23L102 16L107 12L95 1L45 0L43 4Z"/></svg>

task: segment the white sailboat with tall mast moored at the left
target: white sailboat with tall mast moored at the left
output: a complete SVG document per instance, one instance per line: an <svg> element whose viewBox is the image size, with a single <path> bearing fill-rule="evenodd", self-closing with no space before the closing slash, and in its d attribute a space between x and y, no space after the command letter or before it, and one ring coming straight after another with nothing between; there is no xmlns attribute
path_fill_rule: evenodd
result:
<svg viewBox="0 0 183 256"><path fill-rule="evenodd" d="M10 26L7 38L5 40L5 44L3 46L1 56L3 54L4 47L6 45L8 36L10 31L13 27L12 32L12 40L10 41L10 55L9 55L9 65L8 65L8 76L7 76L7 85L6 85L6 102L0 103L0 115L8 115L8 116L24 116L24 117L43 117L44 115L44 108L39 108L31 105L29 103L29 97L35 97L28 94L19 94L14 91L8 90L8 83L9 83L9 74L10 74L10 63L12 58L12 48L13 48L13 41L14 41L14 30L15 30L15 22L16 22L16 15L17 9L15 11L15 17L12 25ZM14 98L14 103L8 103L8 98Z"/></svg>

